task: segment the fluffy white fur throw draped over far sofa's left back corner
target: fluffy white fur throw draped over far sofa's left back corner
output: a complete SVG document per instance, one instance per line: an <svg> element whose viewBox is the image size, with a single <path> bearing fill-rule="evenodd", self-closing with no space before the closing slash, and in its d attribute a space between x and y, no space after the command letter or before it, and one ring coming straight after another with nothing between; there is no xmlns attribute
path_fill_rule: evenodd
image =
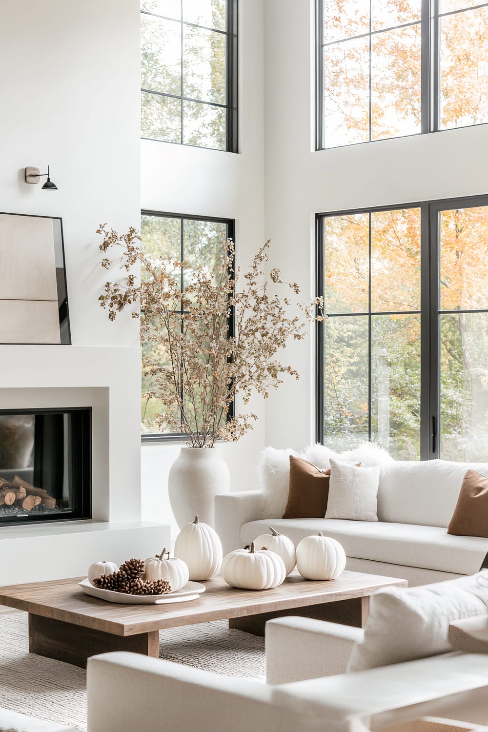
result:
<svg viewBox="0 0 488 732"><path fill-rule="evenodd" d="M310 445L301 452L293 449L276 449L266 447L259 464L260 484L266 501L266 516L263 518L281 518L288 502L290 483L290 455L302 458L321 470L330 467L330 458L342 460L344 463L361 463L363 466L386 466L394 463L388 452L372 442L363 442L359 447L346 452L334 452L326 445Z"/></svg>

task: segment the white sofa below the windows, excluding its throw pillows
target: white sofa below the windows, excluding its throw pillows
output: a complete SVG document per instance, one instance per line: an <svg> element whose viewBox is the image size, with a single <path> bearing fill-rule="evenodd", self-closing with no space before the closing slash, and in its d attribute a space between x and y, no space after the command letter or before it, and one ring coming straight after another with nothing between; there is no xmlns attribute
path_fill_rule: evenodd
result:
<svg viewBox="0 0 488 732"><path fill-rule="evenodd" d="M289 453L274 450L261 466L266 493L252 490L216 496L215 528L224 553L249 544L273 526L296 544L307 535L322 531L345 548L347 569L403 578L410 586L478 571L488 552L488 538L452 536L446 528L465 472L474 468L488 474L488 463L388 460L380 472L378 522L283 519L280 517L288 497L285 467ZM350 460L355 459L353 456L353 452L348 454ZM314 457L318 467L328 467L327 452L320 458L316 446ZM374 463L373 456L369 464ZM364 458L363 464L367 464Z"/></svg>

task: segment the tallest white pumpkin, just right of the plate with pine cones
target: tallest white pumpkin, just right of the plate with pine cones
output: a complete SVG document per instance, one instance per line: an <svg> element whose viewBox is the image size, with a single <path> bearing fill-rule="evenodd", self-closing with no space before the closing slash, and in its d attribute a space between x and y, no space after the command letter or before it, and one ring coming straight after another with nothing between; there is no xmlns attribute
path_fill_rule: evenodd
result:
<svg viewBox="0 0 488 732"><path fill-rule="evenodd" d="M174 555L187 564L190 580L203 582L219 571L222 544L217 532L195 516L195 521L184 526L176 537Z"/></svg>

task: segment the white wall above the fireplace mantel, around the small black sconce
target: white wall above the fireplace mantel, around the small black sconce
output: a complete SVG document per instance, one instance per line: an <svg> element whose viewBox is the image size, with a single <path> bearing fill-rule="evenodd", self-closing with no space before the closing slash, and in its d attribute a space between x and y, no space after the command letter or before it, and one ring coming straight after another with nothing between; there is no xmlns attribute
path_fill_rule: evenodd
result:
<svg viewBox="0 0 488 732"><path fill-rule="evenodd" d="M137 321L97 302L95 234L140 221L139 48L138 0L1 4L0 210L62 217L76 346L139 345ZM48 164L59 190L24 182Z"/></svg>

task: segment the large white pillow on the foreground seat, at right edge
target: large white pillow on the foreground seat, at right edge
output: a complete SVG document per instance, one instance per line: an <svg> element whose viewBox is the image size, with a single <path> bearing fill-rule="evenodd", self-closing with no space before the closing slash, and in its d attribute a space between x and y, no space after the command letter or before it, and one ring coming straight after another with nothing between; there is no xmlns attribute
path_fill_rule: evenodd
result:
<svg viewBox="0 0 488 732"><path fill-rule="evenodd" d="M372 594L364 641L350 654L348 671L411 661L451 650L449 624L488 615L488 571L420 587Z"/></svg>

